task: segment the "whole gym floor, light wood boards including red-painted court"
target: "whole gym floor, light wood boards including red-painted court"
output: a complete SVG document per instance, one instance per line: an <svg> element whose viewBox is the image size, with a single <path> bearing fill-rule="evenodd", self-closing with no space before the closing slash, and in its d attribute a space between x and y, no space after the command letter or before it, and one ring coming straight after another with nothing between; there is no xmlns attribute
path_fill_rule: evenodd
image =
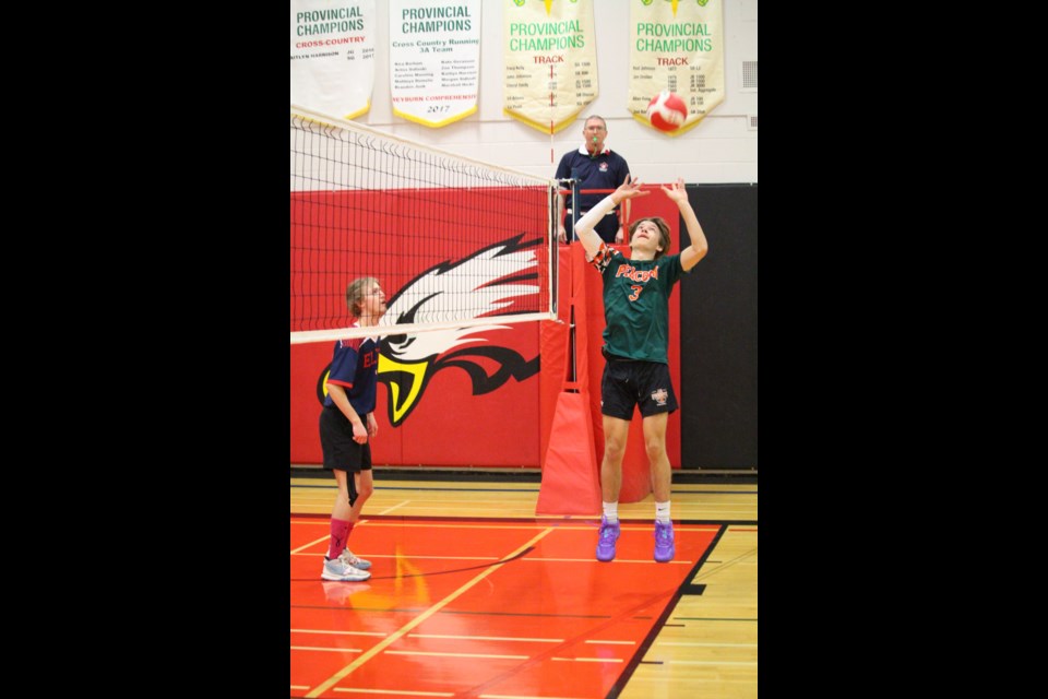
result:
<svg viewBox="0 0 1048 699"><path fill-rule="evenodd" d="M290 696L757 697L755 484L675 482L669 564L651 496L620 505L602 564L599 516L536 517L537 482L378 471L349 540L372 577L343 583L315 475L290 479Z"/></svg>

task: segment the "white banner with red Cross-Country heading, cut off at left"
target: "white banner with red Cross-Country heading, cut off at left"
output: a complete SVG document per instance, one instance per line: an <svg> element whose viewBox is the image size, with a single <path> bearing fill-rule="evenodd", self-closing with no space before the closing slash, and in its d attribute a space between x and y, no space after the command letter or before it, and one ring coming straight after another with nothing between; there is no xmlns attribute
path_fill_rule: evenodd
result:
<svg viewBox="0 0 1048 699"><path fill-rule="evenodd" d="M291 0L291 104L353 119L371 108L374 0Z"/></svg>

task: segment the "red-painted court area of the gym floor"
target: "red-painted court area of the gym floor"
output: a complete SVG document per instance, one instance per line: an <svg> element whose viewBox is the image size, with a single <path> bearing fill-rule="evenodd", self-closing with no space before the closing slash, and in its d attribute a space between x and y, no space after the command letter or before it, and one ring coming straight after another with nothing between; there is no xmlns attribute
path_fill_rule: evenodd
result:
<svg viewBox="0 0 1048 699"><path fill-rule="evenodd" d="M616 559L597 522L367 518L349 548L366 582L320 579L326 517L290 519L293 697L605 698L621 687L720 532L622 521Z"/></svg>

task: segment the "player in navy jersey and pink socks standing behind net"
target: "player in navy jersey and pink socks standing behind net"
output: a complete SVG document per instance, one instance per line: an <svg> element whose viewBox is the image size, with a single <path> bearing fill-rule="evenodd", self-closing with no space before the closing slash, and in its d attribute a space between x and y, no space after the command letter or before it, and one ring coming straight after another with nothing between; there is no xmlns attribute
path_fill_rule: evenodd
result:
<svg viewBox="0 0 1048 699"><path fill-rule="evenodd" d="M354 280L346 288L346 303L356 319L352 327L377 325L385 313L385 293L370 276ZM324 469L335 474L338 493L331 512L331 542L324 556L324 580L367 580L371 562L347 547L353 525L373 490L371 445L379 430L374 420L379 344L377 337L356 337L335 343L327 395L320 414L320 443Z"/></svg>

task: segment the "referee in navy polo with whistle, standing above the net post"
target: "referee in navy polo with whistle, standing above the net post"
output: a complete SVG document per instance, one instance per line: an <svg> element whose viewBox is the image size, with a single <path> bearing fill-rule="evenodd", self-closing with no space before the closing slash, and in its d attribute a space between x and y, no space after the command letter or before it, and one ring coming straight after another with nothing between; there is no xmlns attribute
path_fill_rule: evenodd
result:
<svg viewBox="0 0 1048 699"><path fill-rule="evenodd" d="M611 149L604 144L608 137L608 125L596 115L586 119L586 125L582 129L582 135L585 141L577 150L565 153L560 158L560 165L557 166L557 179L573 178L579 181L579 190L604 189L605 192L580 193L579 201L573 202L569 194L567 201L564 196L558 196L560 204L557 216L557 235L561 242L568 242L568 232L572 230L572 209L577 203L577 218L593 209L597 202L607 197L610 192L626 182L630 174L630 166L626 158L618 153L612 153ZM629 200L627 200L628 202ZM629 203L627 203L629 206ZM627 209L629 212L629 209ZM622 242L622 227L619 225L618 208L609 211L594 227L594 230L605 242ZM572 233L572 240L579 238Z"/></svg>

